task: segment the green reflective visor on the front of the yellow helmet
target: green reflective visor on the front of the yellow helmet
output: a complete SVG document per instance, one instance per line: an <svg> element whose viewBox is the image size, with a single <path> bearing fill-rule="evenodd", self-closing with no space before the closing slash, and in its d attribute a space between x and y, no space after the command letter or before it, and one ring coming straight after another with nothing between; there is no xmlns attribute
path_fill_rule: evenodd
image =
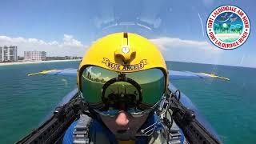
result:
<svg viewBox="0 0 256 144"><path fill-rule="evenodd" d="M81 76L82 95L91 105L108 103L118 109L117 102L126 109L142 105L153 106L165 90L165 76L160 69L133 73L118 73L98 66L86 67Z"/></svg>

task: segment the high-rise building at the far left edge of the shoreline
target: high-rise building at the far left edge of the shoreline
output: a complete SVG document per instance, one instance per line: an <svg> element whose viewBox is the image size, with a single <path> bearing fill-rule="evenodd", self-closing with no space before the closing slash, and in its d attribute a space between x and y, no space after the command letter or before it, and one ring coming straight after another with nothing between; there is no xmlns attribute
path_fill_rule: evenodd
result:
<svg viewBox="0 0 256 144"><path fill-rule="evenodd" d="M0 62L17 62L17 46L0 46Z"/></svg>

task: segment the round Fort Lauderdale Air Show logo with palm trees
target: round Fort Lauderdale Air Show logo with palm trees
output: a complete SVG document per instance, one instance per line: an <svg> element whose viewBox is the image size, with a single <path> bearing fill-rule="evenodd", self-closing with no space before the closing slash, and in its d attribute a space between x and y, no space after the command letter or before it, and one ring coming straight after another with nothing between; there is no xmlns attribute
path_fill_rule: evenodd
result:
<svg viewBox="0 0 256 144"><path fill-rule="evenodd" d="M206 31L215 46L232 50L246 42L250 34L250 21L237 6L219 6L207 19Z"/></svg>

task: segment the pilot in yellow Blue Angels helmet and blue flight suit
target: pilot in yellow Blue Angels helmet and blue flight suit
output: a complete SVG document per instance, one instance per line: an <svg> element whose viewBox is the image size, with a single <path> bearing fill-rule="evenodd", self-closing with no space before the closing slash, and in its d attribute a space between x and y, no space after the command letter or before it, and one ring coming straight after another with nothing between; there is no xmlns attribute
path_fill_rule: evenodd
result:
<svg viewBox="0 0 256 144"><path fill-rule="evenodd" d="M146 38L117 33L99 39L78 70L90 117L81 114L63 143L166 143L165 126L155 111L167 81L162 54Z"/></svg>

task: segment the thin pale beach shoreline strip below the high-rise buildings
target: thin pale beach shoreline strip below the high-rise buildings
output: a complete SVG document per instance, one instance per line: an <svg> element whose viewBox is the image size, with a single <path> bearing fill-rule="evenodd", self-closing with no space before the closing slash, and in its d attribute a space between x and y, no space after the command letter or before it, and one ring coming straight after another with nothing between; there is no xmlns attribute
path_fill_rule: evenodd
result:
<svg viewBox="0 0 256 144"><path fill-rule="evenodd" d="M48 62L72 62L72 61L80 61L80 60L81 59L50 60L50 61L36 61L36 62L6 62L6 63L0 63L0 66L37 64L37 63L48 63Z"/></svg>

